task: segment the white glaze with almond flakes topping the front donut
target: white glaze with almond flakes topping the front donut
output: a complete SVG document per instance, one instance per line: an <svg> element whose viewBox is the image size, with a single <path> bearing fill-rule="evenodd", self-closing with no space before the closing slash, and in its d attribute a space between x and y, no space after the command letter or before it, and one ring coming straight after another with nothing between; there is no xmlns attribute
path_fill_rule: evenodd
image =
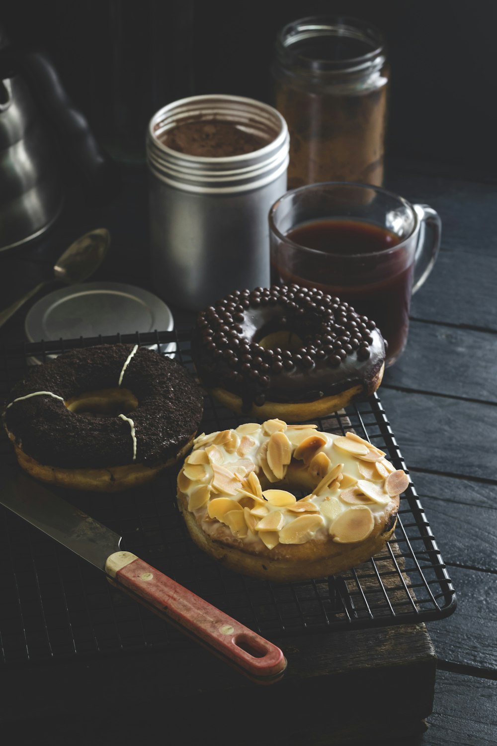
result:
<svg viewBox="0 0 497 746"><path fill-rule="evenodd" d="M178 475L189 512L211 539L270 550L362 542L396 511L408 483L383 451L353 433L279 419L200 435ZM308 495L297 501L297 488Z"/></svg>

